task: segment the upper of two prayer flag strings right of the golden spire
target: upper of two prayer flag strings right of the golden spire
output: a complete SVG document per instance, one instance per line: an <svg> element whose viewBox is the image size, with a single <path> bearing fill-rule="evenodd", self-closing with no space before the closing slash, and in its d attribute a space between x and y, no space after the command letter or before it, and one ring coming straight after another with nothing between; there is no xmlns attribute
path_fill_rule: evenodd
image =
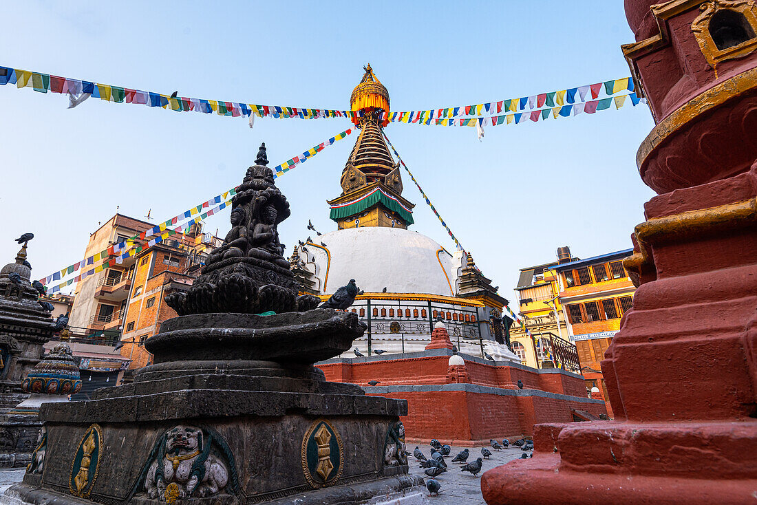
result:
<svg viewBox="0 0 757 505"><path fill-rule="evenodd" d="M528 110L543 108L545 105L550 108L559 108L566 104L575 104L577 102L577 94L579 98L578 102L586 101L587 95L589 94L592 100L597 100L602 90L604 90L607 96L612 96L625 90L633 92L634 81L630 77L624 77L622 79L612 79L604 83L587 84L586 86L578 86L549 93L540 93L538 95L524 96L522 98L490 101L485 104L437 108L428 111L393 112L391 114L391 121L399 121L401 123L425 123L432 119L451 119L459 116L491 117L494 114L500 114L502 111L505 111L505 113L525 111L527 107Z"/></svg>

